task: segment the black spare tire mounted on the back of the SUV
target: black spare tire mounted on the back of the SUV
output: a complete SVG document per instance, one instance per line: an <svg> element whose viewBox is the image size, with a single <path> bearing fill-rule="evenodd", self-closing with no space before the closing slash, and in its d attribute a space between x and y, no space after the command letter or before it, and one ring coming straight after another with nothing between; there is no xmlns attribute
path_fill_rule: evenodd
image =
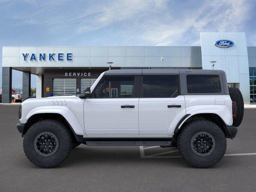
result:
<svg viewBox="0 0 256 192"><path fill-rule="evenodd" d="M236 117L233 118L233 126L238 127L242 123L244 117L244 99L238 88L229 87L228 91L231 100L236 102L237 112Z"/></svg>

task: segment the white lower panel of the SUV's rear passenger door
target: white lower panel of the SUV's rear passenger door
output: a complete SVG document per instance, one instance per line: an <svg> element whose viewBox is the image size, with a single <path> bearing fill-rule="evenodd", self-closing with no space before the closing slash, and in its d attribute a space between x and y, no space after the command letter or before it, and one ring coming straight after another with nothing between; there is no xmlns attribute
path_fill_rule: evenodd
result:
<svg viewBox="0 0 256 192"><path fill-rule="evenodd" d="M181 105L168 108L168 105ZM176 98L140 98L139 130L145 136L170 136L170 124L186 114L184 96ZM180 118L179 118L180 119Z"/></svg>

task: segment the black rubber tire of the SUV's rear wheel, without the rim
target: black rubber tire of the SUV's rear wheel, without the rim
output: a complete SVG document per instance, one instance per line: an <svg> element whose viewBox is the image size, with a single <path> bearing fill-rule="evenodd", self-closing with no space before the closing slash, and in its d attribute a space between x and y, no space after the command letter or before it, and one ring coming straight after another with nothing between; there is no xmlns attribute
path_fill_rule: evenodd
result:
<svg viewBox="0 0 256 192"><path fill-rule="evenodd" d="M207 156L198 156L193 152L190 142L198 132L208 132L215 140L215 148ZM208 120L194 120L184 128L178 135L178 150L181 156L196 168L209 168L218 163L226 152L226 136L222 129Z"/></svg>

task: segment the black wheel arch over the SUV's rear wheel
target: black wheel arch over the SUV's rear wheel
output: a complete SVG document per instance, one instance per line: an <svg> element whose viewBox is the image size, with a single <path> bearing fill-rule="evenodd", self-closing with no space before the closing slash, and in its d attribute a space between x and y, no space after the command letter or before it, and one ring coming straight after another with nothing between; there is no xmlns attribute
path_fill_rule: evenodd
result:
<svg viewBox="0 0 256 192"><path fill-rule="evenodd" d="M199 120L199 119L206 119L206 120L210 120L210 121L214 122L223 130L226 138L231 138L231 134L230 134L230 131L228 130L226 123L218 114L215 114L215 113L199 113L199 114L193 114L193 115L186 114L178 122L178 124L175 127L174 138L176 138L176 136L178 136L178 134L186 126L186 124L188 124L191 121Z"/></svg>

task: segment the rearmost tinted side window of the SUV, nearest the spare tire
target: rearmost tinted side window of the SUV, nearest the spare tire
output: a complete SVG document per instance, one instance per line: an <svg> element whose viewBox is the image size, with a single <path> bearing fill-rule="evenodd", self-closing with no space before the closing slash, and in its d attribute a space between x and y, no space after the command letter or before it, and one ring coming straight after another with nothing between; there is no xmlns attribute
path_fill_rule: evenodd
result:
<svg viewBox="0 0 256 192"><path fill-rule="evenodd" d="M187 75L188 93L221 93L220 76Z"/></svg>

